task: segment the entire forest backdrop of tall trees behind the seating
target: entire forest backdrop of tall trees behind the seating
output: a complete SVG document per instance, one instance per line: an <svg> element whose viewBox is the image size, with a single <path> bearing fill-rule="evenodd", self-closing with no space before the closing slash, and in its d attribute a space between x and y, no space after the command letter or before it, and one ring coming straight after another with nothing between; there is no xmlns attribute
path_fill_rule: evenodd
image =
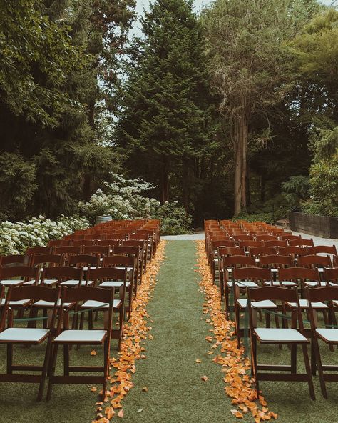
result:
<svg viewBox="0 0 338 423"><path fill-rule="evenodd" d="M135 6L1 3L0 220L338 216L334 4Z"/></svg>

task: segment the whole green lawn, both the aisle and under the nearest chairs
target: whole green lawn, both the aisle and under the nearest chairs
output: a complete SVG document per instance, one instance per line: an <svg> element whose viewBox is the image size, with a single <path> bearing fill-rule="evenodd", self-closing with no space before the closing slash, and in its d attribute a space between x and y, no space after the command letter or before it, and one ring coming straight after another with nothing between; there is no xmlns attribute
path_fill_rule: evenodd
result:
<svg viewBox="0 0 338 423"><path fill-rule="evenodd" d="M145 341L146 359L138 360L133 374L135 387L123 400L126 423L216 423L236 422L230 409L230 398L225 395L222 367L208 355L210 324L203 314L204 296L200 293L196 264L195 242L168 242L166 259L160 267L158 283L151 299L149 325L153 340ZM113 340L112 355L116 355L117 341ZM71 363L99 365L100 349L91 356L91 347L71 351ZM338 350L323 349L324 359L337 361ZM217 350L216 350L217 353ZM216 354L215 353L215 354ZM16 362L33 364L42 359L41 347L26 349L18 346ZM59 354L58 372L61 373L62 354ZM4 372L6 349L0 347L0 372ZM201 364L195 362L202 361ZM259 359L264 362L287 363L289 350L284 347L260 347ZM299 367L302 367L299 359ZM202 376L208 376L203 382ZM309 398L304 382L261 382L268 407L279 414L283 423L336 423L338 422L338 384L328 383L329 399L320 394L318 378L314 378L317 401ZM148 392L143 392L143 387ZM36 403L36 384L0 384L0 423L85 423L95 416L98 395L89 385L55 385L51 402ZM45 391L46 393L46 391ZM118 420L114 417L113 421ZM245 415L243 422L253 422ZM273 420L272 420L273 421Z"/></svg>

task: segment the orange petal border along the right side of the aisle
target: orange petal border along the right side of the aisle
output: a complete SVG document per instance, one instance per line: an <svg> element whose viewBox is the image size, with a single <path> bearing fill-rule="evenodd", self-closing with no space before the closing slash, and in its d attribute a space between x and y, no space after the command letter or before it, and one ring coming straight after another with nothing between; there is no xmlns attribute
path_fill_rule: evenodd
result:
<svg viewBox="0 0 338 423"><path fill-rule="evenodd" d="M210 329L213 336L208 336L206 339L212 343L210 355L212 357L215 355L212 361L220 364L222 372L225 373L225 392L232 398L231 403L238 407L232 409L231 412L239 419L243 418L243 414L251 412L256 423L271 418L276 419L277 414L269 411L265 398L263 396L257 398L250 377L250 360L244 356L243 348L237 348L237 340L234 337L235 324L225 319L220 303L220 289L212 282L210 267L205 256L205 244L203 241L196 243L198 244L198 272L202 277L200 288L206 300L203 304L203 312L210 316L207 322L213 327ZM219 354L217 349L220 349Z"/></svg>

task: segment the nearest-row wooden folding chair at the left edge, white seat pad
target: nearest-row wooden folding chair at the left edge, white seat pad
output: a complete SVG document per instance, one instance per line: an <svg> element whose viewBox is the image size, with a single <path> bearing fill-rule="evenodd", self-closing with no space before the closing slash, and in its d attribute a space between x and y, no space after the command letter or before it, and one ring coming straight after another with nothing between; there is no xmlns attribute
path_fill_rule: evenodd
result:
<svg viewBox="0 0 338 423"><path fill-rule="evenodd" d="M46 328L14 327L15 319L11 312L11 303L20 302L24 299L43 300L53 303L53 312L48 319ZM51 337L56 321L56 312L60 289L49 289L41 286L9 287L9 292L4 305L1 319L0 344L7 346L7 371L0 374L0 382L26 382L39 383L37 400L41 401L43 387L46 380L48 360L51 355ZM6 321L9 322L6 328ZM43 364L40 366L29 364L13 364L13 347L16 344L38 345L46 341L46 352ZM16 372L41 372L40 374L17 374Z"/></svg>

